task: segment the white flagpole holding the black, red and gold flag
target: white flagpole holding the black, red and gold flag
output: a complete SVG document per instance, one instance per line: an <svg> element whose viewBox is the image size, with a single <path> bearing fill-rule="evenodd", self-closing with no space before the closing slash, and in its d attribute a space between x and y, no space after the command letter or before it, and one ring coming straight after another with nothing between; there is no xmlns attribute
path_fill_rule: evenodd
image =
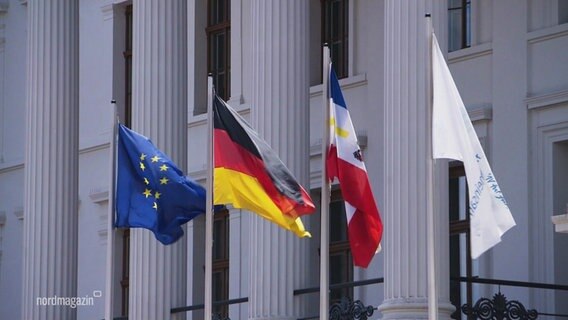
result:
<svg viewBox="0 0 568 320"><path fill-rule="evenodd" d="M207 184L205 204L205 319L213 318L213 77L207 78Z"/></svg>

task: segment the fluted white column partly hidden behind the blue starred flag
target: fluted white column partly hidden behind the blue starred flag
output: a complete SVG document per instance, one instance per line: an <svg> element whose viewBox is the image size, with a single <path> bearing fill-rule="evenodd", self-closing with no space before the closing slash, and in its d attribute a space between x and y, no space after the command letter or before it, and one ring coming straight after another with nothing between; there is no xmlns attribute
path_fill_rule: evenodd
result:
<svg viewBox="0 0 568 320"><path fill-rule="evenodd" d="M187 167L187 7L185 0L133 6L132 127L180 169ZM184 170L185 171L185 170ZM145 229L130 236L129 319L185 319L187 242L162 245Z"/></svg>

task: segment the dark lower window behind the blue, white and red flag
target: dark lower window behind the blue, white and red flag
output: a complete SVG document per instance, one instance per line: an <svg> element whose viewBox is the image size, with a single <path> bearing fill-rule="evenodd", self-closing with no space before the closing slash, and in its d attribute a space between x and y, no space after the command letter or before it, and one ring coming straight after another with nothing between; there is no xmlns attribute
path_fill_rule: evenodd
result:
<svg viewBox="0 0 568 320"><path fill-rule="evenodd" d="M345 206L339 191L332 192L329 203L329 284L353 281L353 258L347 235ZM353 299L353 288L330 290L330 303L342 297Z"/></svg>

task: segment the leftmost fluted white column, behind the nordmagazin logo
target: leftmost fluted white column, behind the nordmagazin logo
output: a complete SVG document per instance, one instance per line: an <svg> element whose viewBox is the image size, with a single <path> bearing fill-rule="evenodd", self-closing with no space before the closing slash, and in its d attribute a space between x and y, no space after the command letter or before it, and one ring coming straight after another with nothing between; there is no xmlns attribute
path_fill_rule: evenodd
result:
<svg viewBox="0 0 568 320"><path fill-rule="evenodd" d="M22 319L76 319L79 2L28 1ZM47 301L46 301L47 302Z"/></svg>

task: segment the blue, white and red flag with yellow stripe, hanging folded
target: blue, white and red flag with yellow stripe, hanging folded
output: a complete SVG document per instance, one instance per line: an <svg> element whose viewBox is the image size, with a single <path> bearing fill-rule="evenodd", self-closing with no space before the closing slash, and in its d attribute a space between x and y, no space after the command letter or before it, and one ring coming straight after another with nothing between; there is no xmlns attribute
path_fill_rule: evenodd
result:
<svg viewBox="0 0 568 320"><path fill-rule="evenodd" d="M366 268L379 249L383 223L371 190L351 116L331 66L329 85L331 110L327 174L330 180L337 177L341 186L353 262L356 266Z"/></svg>

